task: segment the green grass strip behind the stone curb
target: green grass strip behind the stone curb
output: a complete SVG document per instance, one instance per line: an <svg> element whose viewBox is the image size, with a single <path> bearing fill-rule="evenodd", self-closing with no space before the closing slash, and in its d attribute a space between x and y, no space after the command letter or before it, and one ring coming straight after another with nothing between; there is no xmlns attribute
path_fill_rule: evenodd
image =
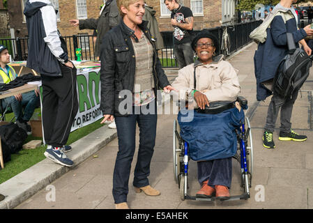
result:
<svg viewBox="0 0 313 223"><path fill-rule="evenodd" d="M39 110L36 109L34 113L38 111L40 112L40 108ZM6 115L7 121L10 121L11 118L13 118L13 113ZM72 144L74 141L77 141L78 139L81 139L87 134L93 132L94 130L97 130L98 128L102 127L103 125L100 124L101 121L102 118L94 123L91 123L90 125L84 126L82 128L75 130L74 132L71 132L70 137L68 137L68 145ZM42 140L43 138L33 137L30 135L29 137L27 137L25 143L35 139ZM22 171L28 169L34 164L37 164L38 162L45 160L45 155L43 155L43 153L45 153L46 148L47 146L40 146L38 148L31 150L22 149L19 153L12 154L11 161L6 162L4 164L4 169L0 170L0 184L10 178L13 178L13 176L20 174Z"/></svg>

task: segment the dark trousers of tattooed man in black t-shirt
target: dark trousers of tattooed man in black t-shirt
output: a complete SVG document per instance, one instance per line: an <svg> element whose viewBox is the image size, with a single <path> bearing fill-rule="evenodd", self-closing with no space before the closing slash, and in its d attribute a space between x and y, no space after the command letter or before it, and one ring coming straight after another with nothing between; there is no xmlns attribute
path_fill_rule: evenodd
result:
<svg viewBox="0 0 313 223"><path fill-rule="evenodd" d="M177 59L179 69L194 62L194 51L191 47L191 43L174 45L174 54Z"/></svg>

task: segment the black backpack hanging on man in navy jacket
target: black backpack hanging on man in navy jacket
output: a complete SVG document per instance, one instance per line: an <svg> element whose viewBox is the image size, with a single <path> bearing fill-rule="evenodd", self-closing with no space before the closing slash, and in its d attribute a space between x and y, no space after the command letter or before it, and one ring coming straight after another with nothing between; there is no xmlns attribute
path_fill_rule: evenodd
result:
<svg viewBox="0 0 313 223"><path fill-rule="evenodd" d="M292 33L287 33L287 43L289 52L277 68L273 91L284 98L291 98L309 76L313 59L303 49L296 49Z"/></svg>

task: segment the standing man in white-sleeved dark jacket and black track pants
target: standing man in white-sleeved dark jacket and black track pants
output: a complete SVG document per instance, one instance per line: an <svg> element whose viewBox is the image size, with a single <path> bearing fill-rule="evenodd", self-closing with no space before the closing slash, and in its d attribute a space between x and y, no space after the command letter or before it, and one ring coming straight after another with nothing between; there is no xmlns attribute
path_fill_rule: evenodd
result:
<svg viewBox="0 0 313 223"><path fill-rule="evenodd" d="M56 10L48 0L28 0L24 8L29 33L27 67L40 73L43 86L45 156L71 167L64 152L78 110L76 68L56 27Z"/></svg>

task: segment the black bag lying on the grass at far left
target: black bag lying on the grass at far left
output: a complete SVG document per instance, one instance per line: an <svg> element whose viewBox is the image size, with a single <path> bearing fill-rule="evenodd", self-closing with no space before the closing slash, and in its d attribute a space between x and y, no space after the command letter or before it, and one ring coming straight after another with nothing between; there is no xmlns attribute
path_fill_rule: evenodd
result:
<svg viewBox="0 0 313 223"><path fill-rule="evenodd" d="M17 153L27 138L27 133L15 123L0 126L1 146L10 154ZM6 148L7 147L7 148ZM3 159L4 161L5 159Z"/></svg>

